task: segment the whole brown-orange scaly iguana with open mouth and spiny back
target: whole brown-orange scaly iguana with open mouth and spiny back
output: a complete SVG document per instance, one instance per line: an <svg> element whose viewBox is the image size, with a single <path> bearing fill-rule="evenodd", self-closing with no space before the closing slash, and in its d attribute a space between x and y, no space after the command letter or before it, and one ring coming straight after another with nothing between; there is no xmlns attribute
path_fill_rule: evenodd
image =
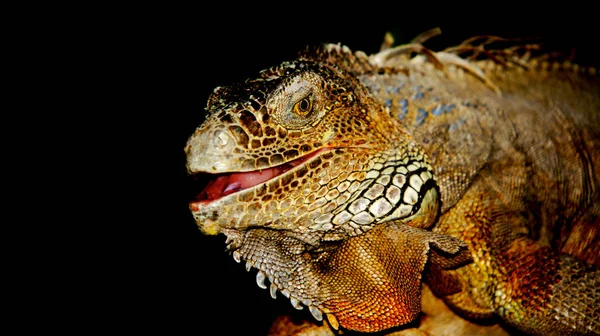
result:
<svg viewBox="0 0 600 336"><path fill-rule="evenodd" d="M600 334L600 76L430 35L217 87L185 146L200 230L319 330L419 328L426 284L509 332Z"/></svg>

